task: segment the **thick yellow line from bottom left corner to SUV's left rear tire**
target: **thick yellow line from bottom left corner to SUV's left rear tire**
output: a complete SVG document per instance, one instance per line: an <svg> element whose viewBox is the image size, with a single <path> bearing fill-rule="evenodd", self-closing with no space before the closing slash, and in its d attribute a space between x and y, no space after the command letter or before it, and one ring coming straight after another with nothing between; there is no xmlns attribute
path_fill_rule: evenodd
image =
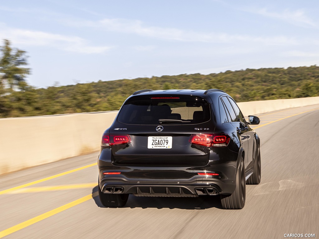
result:
<svg viewBox="0 0 319 239"><path fill-rule="evenodd" d="M53 209L53 210L51 210L49 212L46 212L46 213L41 214L39 216L33 217L33 218L31 218L31 219L29 219L27 221L21 222L18 225L15 225L15 226L13 226L11 228L8 228L8 229L5 229L5 230L1 231L0 232L0 238L4 237L6 235L9 235L11 233L14 233L16 231L19 231L19 230L21 230L23 228L26 228L26 227L28 227L28 226L36 223L36 222L42 221L42 220L44 220L44 219L46 219L46 218L48 218L50 216L53 216L53 215L58 214L60 212L63 212L63 211L65 211L65 210L67 210L67 209L69 209L71 207L77 206L80 203L85 202L87 200L90 200L90 199L92 199L92 198L94 198L96 196L98 196L98 192L94 192L94 193L92 193L90 195L87 195L87 196L85 196L83 198L77 199L77 200L75 200L73 202L70 202L70 203L65 204L63 206L60 206L60 207L57 207L57 208L55 208L55 209Z"/></svg>

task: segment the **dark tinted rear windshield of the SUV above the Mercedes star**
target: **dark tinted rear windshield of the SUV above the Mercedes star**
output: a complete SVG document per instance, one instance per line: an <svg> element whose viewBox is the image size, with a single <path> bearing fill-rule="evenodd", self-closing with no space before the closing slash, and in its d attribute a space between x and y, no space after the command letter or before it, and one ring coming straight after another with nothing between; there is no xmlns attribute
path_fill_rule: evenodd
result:
<svg viewBox="0 0 319 239"><path fill-rule="evenodd" d="M124 124L199 124L210 120L207 101L197 96L133 96L122 106L117 120Z"/></svg>

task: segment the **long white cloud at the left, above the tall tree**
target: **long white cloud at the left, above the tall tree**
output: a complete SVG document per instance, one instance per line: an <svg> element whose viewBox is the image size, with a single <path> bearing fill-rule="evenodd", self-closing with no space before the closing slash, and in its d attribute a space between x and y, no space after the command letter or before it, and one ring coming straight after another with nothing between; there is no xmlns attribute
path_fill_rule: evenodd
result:
<svg viewBox="0 0 319 239"><path fill-rule="evenodd" d="M15 44L27 46L49 46L64 51L86 54L103 53L111 48L107 46L89 46L85 39L77 36L66 36L48 32L10 28L5 24L0 24L0 39L8 39Z"/></svg>

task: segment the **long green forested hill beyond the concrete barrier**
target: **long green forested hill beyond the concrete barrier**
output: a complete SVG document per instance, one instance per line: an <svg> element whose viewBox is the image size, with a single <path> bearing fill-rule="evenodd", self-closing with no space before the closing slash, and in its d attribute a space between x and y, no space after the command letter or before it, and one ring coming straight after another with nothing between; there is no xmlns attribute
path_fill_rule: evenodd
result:
<svg viewBox="0 0 319 239"><path fill-rule="evenodd" d="M90 79L88 79L90 80ZM237 102L319 96L319 67L289 67L122 79L34 89L27 87L0 97L0 117L118 110L141 89L211 89Z"/></svg>

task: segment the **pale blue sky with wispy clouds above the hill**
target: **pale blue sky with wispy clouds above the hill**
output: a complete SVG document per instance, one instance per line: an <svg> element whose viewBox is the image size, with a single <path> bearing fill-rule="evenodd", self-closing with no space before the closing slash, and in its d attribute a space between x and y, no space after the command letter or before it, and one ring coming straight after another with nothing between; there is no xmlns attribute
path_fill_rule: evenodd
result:
<svg viewBox="0 0 319 239"><path fill-rule="evenodd" d="M319 64L319 1L0 1L35 87Z"/></svg>

